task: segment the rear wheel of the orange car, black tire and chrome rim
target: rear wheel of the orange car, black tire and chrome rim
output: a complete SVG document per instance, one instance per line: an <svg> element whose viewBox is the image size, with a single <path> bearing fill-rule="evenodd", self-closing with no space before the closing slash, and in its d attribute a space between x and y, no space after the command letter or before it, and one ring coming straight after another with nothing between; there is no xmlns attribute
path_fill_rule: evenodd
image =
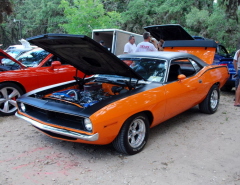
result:
<svg viewBox="0 0 240 185"><path fill-rule="evenodd" d="M201 112L213 114L217 111L220 99L220 91L217 85L213 85L206 98L199 104Z"/></svg>

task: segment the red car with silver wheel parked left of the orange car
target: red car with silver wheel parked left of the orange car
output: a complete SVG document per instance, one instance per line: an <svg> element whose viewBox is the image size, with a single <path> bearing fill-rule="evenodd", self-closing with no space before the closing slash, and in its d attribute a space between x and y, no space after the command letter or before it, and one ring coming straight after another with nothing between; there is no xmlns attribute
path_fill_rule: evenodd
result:
<svg viewBox="0 0 240 185"><path fill-rule="evenodd" d="M76 68L37 48L14 59L0 49L0 114L16 112L16 99L39 87L70 81ZM83 77L82 72L78 72Z"/></svg>

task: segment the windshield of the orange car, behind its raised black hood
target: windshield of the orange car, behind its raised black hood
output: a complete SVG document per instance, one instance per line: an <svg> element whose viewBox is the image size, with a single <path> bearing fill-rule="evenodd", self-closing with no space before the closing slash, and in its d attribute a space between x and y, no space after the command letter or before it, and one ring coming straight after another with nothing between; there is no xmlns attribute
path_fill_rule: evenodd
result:
<svg viewBox="0 0 240 185"><path fill-rule="evenodd" d="M121 60L148 81L164 80L167 65L165 60L152 58L121 58Z"/></svg>

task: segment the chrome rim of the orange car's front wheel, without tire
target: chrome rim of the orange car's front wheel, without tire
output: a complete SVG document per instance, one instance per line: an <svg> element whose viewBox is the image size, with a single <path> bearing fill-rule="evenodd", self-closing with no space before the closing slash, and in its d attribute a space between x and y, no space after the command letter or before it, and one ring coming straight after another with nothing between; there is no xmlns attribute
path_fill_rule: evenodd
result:
<svg viewBox="0 0 240 185"><path fill-rule="evenodd" d="M132 148L139 147L146 135L146 126L142 119L135 119L128 129L128 143Z"/></svg>

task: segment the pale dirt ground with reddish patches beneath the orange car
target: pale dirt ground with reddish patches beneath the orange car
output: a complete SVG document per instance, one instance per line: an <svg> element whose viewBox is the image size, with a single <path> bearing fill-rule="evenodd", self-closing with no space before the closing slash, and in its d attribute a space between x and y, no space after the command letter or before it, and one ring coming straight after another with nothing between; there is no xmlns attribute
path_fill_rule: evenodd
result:
<svg viewBox="0 0 240 185"><path fill-rule="evenodd" d="M221 92L218 111L194 107L154 127L133 156L52 139L0 117L0 185L240 185L240 108Z"/></svg>

